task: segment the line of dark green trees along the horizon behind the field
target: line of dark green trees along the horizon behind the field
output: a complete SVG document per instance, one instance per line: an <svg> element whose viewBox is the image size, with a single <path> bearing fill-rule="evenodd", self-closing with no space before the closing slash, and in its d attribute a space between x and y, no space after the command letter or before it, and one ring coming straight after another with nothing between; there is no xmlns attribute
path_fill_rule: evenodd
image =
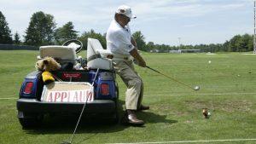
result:
<svg viewBox="0 0 256 144"><path fill-rule="evenodd" d="M11 33L8 22L3 13L0 11L0 43L17 44L17 45L51 45L62 44L69 39L79 39L84 43L86 49L87 38L96 38L102 43L102 47L106 48L106 33L97 33L94 30L83 32L79 36L79 32L74 30L73 22L68 21L61 27L56 27L55 18L52 14L45 14L42 11L32 14L29 25L26 28L24 41L20 40L20 35L15 32ZM137 47L143 51L169 52L177 49L201 49L201 52L246 52L253 50L253 35L243 34L232 37L225 43L197 44L197 45L179 45L171 46L167 44L157 44L154 42L145 42L143 33L138 31L132 34Z"/></svg>

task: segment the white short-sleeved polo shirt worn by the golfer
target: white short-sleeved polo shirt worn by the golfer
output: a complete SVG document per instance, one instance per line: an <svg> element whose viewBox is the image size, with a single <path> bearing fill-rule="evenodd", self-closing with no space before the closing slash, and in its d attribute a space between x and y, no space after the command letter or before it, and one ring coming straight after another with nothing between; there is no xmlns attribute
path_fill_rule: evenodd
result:
<svg viewBox="0 0 256 144"><path fill-rule="evenodd" d="M131 43L130 27L123 28L116 20L112 20L108 27L106 39L107 49L113 54L130 55L129 52L135 48Z"/></svg>

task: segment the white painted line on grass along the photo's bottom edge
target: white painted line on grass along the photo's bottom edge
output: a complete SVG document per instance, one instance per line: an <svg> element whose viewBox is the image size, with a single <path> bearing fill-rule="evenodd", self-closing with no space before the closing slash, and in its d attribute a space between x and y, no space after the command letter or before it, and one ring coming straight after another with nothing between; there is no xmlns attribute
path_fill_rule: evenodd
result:
<svg viewBox="0 0 256 144"><path fill-rule="evenodd" d="M157 144L157 143L196 143L196 142L219 142L219 141L256 141L256 139L230 139L230 140L200 140L200 141L159 141L159 142L131 142L131 143L108 143L108 144Z"/></svg>

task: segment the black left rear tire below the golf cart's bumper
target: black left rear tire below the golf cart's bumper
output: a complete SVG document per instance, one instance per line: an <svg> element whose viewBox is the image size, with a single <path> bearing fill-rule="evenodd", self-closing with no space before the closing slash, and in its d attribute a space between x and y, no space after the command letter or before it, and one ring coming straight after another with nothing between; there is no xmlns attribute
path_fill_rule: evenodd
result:
<svg viewBox="0 0 256 144"><path fill-rule="evenodd" d="M42 124L44 115L37 113L23 113L24 117L19 118L23 129L37 127Z"/></svg>

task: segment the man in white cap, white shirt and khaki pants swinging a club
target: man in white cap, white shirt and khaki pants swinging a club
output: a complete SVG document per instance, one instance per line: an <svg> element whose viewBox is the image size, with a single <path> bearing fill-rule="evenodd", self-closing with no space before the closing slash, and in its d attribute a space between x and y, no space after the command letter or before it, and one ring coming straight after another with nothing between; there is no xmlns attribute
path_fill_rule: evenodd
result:
<svg viewBox="0 0 256 144"><path fill-rule="evenodd" d="M137 111L148 110L141 104L143 100L143 80L134 70L131 56L137 60L139 66L146 66L143 57L137 51L137 43L131 36L128 23L136 16L131 14L131 8L125 5L119 6L114 15L114 20L108 27L107 49L113 53L113 65L115 72L127 86L125 92L126 112L124 118L129 124L144 124L143 120L137 118Z"/></svg>

